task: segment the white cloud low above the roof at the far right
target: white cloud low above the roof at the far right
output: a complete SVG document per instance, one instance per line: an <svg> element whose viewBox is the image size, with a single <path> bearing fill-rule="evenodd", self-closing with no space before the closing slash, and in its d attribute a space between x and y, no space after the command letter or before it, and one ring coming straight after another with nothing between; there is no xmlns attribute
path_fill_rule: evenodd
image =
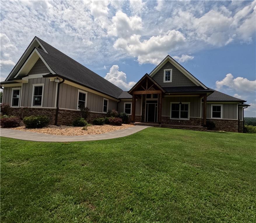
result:
<svg viewBox="0 0 256 223"><path fill-rule="evenodd" d="M231 73L228 73L225 78L220 81L216 81L217 89L222 87L228 87L236 91L247 91L254 92L256 91L256 80L248 80L247 78L237 77L234 78Z"/></svg>

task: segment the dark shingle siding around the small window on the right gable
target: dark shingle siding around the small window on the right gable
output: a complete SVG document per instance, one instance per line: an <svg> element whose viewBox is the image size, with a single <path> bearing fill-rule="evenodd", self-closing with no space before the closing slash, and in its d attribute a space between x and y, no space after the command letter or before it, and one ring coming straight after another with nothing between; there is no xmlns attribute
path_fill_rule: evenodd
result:
<svg viewBox="0 0 256 223"><path fill-rule="evenodd" d="M164 83L164 70L172 69L172 82ZM196 86L183 73L181 73L170 62L166 62L162 68L152 77L161 87L186 87Z"/></svg>

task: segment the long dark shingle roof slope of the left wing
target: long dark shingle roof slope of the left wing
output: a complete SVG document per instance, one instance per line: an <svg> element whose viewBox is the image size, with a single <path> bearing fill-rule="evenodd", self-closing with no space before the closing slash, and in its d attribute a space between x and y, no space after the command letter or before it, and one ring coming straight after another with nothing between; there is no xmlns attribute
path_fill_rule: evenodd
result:
<svg viewBox="0 0 256 223"><path fill-rule="evenodd" d="M45 53L39 48L38 52L56 74L114 98L118 98L123 92L121 88L89 70L48 43L39 38L38 40L48 53Z"/></svg>

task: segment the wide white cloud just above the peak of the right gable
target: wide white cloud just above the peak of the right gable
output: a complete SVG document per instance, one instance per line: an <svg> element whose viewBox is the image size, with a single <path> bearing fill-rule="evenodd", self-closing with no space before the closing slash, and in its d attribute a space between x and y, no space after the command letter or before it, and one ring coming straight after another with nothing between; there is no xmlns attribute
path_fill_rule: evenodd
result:
<svg viewBox="0 0 256 223"><path fill-rule="evenodd" d="M170 30L164 35L152 36L141 42L141 35L132 35L128 39L119 38L114 44L115 49L125 51L131 56L138 57L138 62L158 64L169 49L176 50L186 38L176 30Z"/></svg>

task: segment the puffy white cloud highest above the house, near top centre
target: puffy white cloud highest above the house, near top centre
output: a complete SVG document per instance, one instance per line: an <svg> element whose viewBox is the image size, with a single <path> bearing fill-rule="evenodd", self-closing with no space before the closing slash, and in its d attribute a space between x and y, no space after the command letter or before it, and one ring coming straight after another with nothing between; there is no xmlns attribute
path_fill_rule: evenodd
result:
<svg viewBox="0 0 256 223"><path fill-rule="evenodd" d="M108 35L127 38L138 34L142 29L142 21L138 16L128 17L125 13L118 11L112 18L112 25L108 27Z"/></svg>

